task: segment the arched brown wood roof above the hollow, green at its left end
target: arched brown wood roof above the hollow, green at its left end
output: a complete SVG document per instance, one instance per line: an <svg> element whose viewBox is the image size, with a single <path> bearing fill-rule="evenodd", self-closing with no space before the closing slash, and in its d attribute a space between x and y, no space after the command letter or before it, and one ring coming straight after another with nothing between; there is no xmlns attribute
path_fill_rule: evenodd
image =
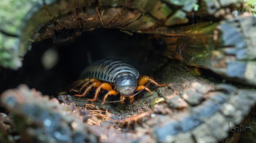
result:
<svg viewBox="0 0 256 143"><path fill-rule="evenodd" d="M0 39L2 39L0 47L5 56L1 59L1 63L4 67L17 69L22 66L18 57L23 57L27 53L31 42L50 37L55 42L63 42L80 35L81 31L98 27L167 36L208 35L220 20L225 19L225 15L230 14L225 11L225 7L240 8L242 2L241 0L227 2L4 0L4 4L1 5L3 26L0 29ZM13 19L15 21L12 21ZM178 24L184 25L177 28ZM7 42L3 41L8 41L9 44L5 45L4 43Z"/></svg>

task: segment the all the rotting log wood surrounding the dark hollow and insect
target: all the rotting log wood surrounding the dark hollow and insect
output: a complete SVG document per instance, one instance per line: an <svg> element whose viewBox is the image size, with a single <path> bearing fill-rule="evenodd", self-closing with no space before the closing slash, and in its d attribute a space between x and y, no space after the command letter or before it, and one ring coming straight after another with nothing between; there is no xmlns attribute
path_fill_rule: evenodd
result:
<svg viewBox="0 0 256 143"><path fill-rule="evenodd" d="M155 50L162 58L147 63L166 86L151 86L153 96L143 92L131 104L101 106L67 95L57 101L25 85L2 93L1 106L13 115L0 114L0 135L6 137L1 139L216 143L231 136L222 142L255 142L255 130L228 129L228 123L256 128L256 18L231 13L242 5L241 0L4 0L0 64L6 68L21 67L32 42L65 42L99 27L154 34L167 46Z"/></svg>

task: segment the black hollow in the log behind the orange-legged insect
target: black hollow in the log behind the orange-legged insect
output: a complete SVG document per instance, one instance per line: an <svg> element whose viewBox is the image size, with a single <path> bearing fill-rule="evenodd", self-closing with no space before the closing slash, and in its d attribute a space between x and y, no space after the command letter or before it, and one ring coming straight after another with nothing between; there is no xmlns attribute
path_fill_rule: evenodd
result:
<svg viewBox="0 0 256 143"><path fill-rule="evenodd" d="M137 33L130 36L119 29L96 29L83 32L73 40L62 42L65 37L73 38L74 35L68 33L67 30L59 31L53 39L33 43L31 51L24 57L22 68L16 71L1 69L0 92L16 88L19 84L27 84L30 88L41 91L43 95L56 97L58 92L70 90L72 83L79 78L90 62L106 58L123 60L137 68L141 75L153 76L160 81L164 76L158 74L164 61L168 59L163 54L166 45L161 38ZM49 50L57 53L57 62L47 69L42 58ZM221 77L209 70L203 72L206 78L221 81ZM91 92L89 97L92 97L93 93ZM135 99L139 97L136 96ZM103 93L99 98L103 98ZM117 101L119 98L112 96L108 100Z"/></svg>

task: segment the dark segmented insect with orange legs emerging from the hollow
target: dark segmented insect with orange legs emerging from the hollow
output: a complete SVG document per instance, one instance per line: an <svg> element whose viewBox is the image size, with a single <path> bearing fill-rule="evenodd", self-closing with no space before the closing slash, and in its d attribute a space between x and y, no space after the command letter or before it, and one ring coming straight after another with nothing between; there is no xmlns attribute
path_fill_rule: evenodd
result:
<svg viewBox="0 0 256 143"><path fill-rule="evenodd" d="M150 83L155 84L155 86L164 86L164 84L158 84L155 80L148 76L139 77L139 71L136 68L120 60L103 59L85 68L81 74L81 79L74 84L74 87L70 90L70 92L74 91L82 93L74 96L84 97L93 87L97 88L94 98L87 99L88 101L98 100L97 96L99 95L100 90L104 89L108 92L104 96L102 104L105 102L124 103L125 99L127 98L130 99L130 103L132 103L134 96L143 89L147 90L151 95L153 95L153 93L147 87ZM112 88L111 85L114 87ZM79 89L76 90L76 88ZM83 89L85 90L82 92ZM134 94L135 91L139 92ZM106 101L109 95L118 95L118 93L121 95L119 101Z"/></svg>

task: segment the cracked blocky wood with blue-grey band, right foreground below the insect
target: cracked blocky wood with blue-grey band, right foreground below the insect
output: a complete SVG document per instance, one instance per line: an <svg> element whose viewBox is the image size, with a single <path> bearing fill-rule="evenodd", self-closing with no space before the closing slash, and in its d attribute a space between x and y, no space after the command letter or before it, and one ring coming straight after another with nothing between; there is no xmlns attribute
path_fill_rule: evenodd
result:
<svg viewBox="0 0 256 143"><path fill-rule="evenodd" d="M157 70L156 76L162 77L162 80L169 84L168 88L157 90L159 96L164 98L164 103L155 105L154 112L141 125L132 124L134 130L116 132L113 126L116 125L115 123L121 123L122 120L111 123L110 121L115 121L112 119L106 120L101 126L92 127L92 130L101 130L97 134L108 136L101 138L103 142L126 140L121 134L132 136L131 141L145 138L158 142L213 143L224 139L229 134L228 123L232 127L239 124L254 106L256 90L214 83L202 78L203 72L200 73L201 76L196 75L195 68L176 60L169 60L160 68L161 70ZM129 107L136 109L135 106L141 104L141 101L144 102L143 98L147 97L142 96ZM83 101L84 104L86 100L79 99L79 101ZM73 102L79 103L76 97L73 98ZM144 104L144 108L145 105L147 104ZM101 108L112 109L111 106ZM133 109L129 108L129 110ZM115 112L112 115L121 117L120 112L125 111L116 109ZM116 141L113 141L115 138Z"/></svg>

